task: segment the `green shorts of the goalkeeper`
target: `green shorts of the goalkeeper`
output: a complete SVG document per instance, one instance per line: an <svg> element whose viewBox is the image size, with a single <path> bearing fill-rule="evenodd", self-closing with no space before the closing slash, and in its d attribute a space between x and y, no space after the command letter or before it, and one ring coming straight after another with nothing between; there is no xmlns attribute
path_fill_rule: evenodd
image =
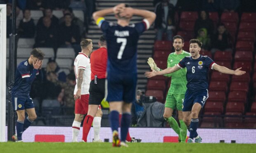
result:
<svg viewBox="0 0 256 153"><path fill-rule="evenodd" d="M182 111L182 104L184 101L185 94L171 94L168 93L166 96L166 102L164 107L176 109Z"/></svg>

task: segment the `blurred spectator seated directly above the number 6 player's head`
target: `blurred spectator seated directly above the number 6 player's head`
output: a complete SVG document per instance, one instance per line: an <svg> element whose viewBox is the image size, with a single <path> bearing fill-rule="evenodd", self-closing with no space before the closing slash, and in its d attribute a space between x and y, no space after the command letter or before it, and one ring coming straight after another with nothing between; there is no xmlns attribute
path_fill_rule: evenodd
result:
<svg viewBox="0 0 256 153"><path fill-rule="evenodd" d="M201 28L198 30L197 39L199 39L203 45L201 46L201 51L209 51L211 49L211 38L207 35L206 28Z"/></svg>

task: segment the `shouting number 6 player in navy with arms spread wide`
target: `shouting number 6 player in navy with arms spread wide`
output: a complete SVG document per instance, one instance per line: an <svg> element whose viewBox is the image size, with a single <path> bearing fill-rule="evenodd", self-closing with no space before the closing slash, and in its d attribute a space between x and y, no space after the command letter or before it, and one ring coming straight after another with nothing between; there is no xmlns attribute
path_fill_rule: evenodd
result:
<svg viewBox="0 0 256 153"><path fill-rule="evenodd" d="M180 61L178 65L167 68L162 71L146 72L145 75L150 78L156 75L173 73L183 68L187 68L187 91L183 102L183 121L188 126L190 125L190 138L187 143L192 143L198 127L198 114L204 106L208 98L208 71L209 69L217 70L225 74L243 75L246 72L241 71L240 67L237 70L230 70L227 67L217 65L208 56L199 54L202 43L198 39L190 40L190 53ZM191 117L192 119L190 119Z"/></svg>

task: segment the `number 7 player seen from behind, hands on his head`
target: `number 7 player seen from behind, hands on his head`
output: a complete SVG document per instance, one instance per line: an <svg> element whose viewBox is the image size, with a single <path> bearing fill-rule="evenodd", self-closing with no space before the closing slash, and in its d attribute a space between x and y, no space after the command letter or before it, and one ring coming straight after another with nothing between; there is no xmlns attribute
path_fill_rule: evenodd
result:
<svg viewBox="0 0 256 153"><path fill-rule="evenodd" d="M117 24L103 18L111 13L115 14ZM145 19L129 25L133 15ZM93 18L107 40L107 101L111 111L109 121L113 131L113 146L127 147L125 140L131 122L131 104L135 101L137 84L137 42L142 32L149 29L156 15L154 12L119 4L95 12ZM119 113L122 113L121 143L118 133Z"/></svg>

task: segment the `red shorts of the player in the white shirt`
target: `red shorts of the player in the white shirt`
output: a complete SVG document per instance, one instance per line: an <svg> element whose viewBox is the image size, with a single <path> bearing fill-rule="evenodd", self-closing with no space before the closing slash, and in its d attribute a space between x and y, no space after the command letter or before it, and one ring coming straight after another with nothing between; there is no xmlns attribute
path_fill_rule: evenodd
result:
<svg viewBox="0 0 256 153"><path fill-rule="evenodd" d="M89 106L89 94L81 95L75 102L75 114L87 114Z"/></svg>

